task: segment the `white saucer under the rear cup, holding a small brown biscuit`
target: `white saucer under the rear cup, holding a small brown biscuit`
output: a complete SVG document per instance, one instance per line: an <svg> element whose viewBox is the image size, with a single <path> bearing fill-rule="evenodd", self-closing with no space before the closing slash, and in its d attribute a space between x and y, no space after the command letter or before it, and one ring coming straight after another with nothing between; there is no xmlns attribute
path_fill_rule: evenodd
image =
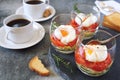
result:
<svg viewBox="0 0 120 80"><path fill-rule="evenodd" d="M46 4L46 5L47 5L47 4ZM34 20L34 21L40 22L40 21L45 21L45 20L48 20L48 19L52 18L52 17L55 15L55 13L56 13L54 7L52 7L51 5L48 5L48 6L47 6L47 9L51 9L51 11L52 11L52 14L51 14L50 16L48 16L48 17L43 17L43 18L40 18L40 19L36 19L36 20ZM24 14L23 6L21 6L20 8L18 8L18 9L16 10L16 14Z"/></svg>

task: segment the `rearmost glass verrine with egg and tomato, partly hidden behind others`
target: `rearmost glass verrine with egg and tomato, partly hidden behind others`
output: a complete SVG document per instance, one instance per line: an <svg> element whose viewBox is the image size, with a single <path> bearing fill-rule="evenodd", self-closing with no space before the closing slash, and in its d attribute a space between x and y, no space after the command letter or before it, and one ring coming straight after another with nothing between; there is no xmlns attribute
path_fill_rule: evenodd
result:
<svg viewBox="0 0 120 80"><path fill-rule="evenodd" d="M82 19L82 30L84 39L91 38L98 30L100 24L100 11L94 5L75 4L72 13L77 14ZM79 25L79 18L75 18L76 24Z"/></svg>

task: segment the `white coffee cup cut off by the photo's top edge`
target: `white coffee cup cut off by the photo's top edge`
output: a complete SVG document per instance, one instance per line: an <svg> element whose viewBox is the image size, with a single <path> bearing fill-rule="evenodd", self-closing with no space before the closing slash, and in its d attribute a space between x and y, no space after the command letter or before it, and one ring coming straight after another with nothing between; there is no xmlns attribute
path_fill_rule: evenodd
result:
<svg viewBox="0 0 120 80"><path fill-rule="evenodd" d="M46 7L46 0L23 0L24 14L32 17L34 20L43 17Z"/></svg>

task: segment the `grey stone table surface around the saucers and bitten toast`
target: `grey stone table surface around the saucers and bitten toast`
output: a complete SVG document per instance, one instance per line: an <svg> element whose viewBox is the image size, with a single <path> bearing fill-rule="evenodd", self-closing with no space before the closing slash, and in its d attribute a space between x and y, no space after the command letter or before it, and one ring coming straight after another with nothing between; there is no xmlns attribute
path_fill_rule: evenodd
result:
<svg viewBox="0 0 120 80"><path fill-rule="evenodd" d="M88 3L94 5L95 0L50 0L56 14L69 13L75 3ZM3 19L22 6L22 0L0 0L0 27L3 25ZM48 51L50 47L49 27L51 19L39 22L45 28L45 36L38 44L20 50L12 50L0 47L0 80L63 80L61 76L49 64ZM120 42L120 41L118 41ZM120 46L118 44L118 46ZM119 52L120 50L117 49ZM28 68L29 60L38 55L43 63L50 69L49 77L42 77L32 72ZM117 56L118 58L118 56ZM120 68L120 66L118 66Z"/></svg>

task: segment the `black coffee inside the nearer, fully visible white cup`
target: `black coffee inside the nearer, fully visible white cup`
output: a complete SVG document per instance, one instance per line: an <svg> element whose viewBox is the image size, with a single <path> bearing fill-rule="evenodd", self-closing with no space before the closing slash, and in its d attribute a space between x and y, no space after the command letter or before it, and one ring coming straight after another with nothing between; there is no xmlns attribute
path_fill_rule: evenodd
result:
<svg viewBox="0 0 120 80"><path fill-rule="evenodd" d="M30 21L28 21L26 19L16 19L16 20L13 20L13 21L7 23L7 25L10 27L22 27L29 23L30 23Z"/></svg>

